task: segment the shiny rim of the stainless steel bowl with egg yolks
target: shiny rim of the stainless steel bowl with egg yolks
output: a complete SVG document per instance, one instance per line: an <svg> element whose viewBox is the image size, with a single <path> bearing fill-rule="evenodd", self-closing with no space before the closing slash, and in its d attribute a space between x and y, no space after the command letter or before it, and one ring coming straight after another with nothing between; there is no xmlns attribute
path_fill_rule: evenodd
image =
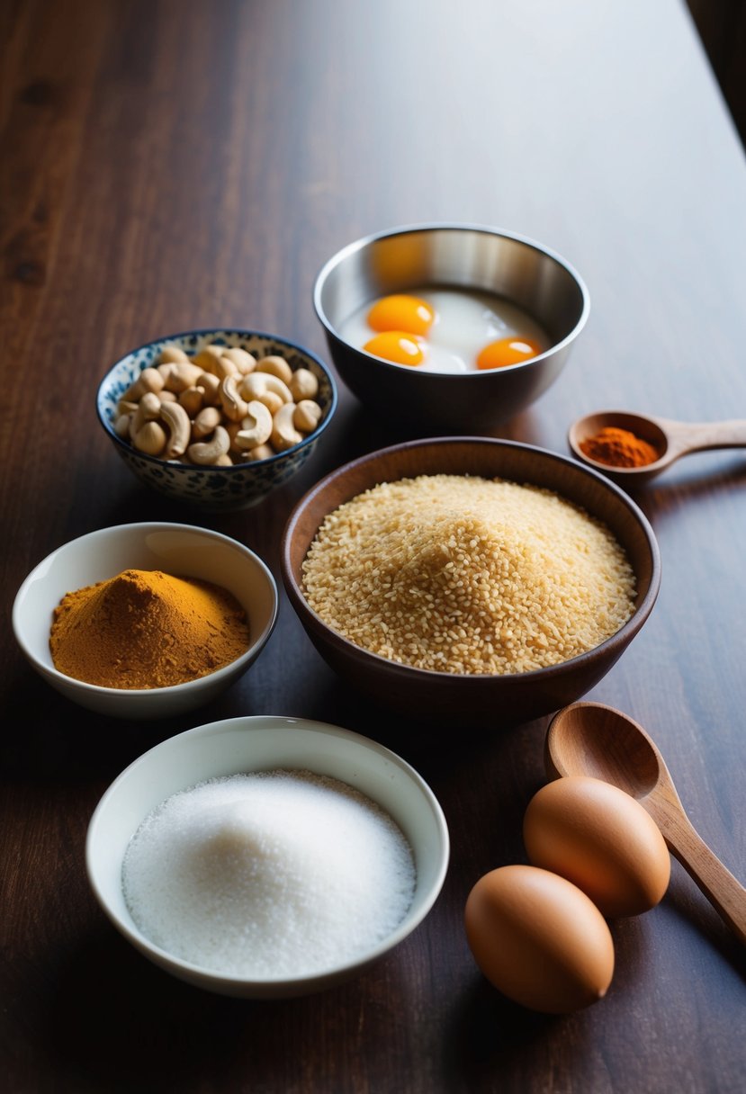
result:
<svg viewBox="0 0 746 1094"><path fill-rule="evenodd" d="M363 251L373 243L377 243L381 240L391 238L397 235L424 235L428 232L469 232L479 235L494 235L500 236L505 240L512 240L514 243L520 243L532 251L536 251L547 258L550 258L558 266L561 266L575 282L582 301L582 307L580 315L572 327L572 330L558 342L553 342L548 349L544 350L543 353L537 353L535 357L529 358L527 361L517 361L515 364L504 365L501 369L485 369L481 371L468 372L468 373L450 373L450 372L432 372L422 371L418 369L412 369L408 364L397 364L395 361L386 361L384 358L376 357L374 353L369 353L366 350L358 346L352 346L350 342L346 341L337 328L334 326L328 315L326 314L324 306L322 304L322 293L329 275L334 269L337 268L346 258L357 252ZM591 311L591 296L588 293L587 286L584 279L581 277L578 269L568 261L558 251L552 247L547 246L544 243L539 243L538 240L533 238L528 235L523 235L518 232L511 232L494 225L482 224L469 221L424 221L422 223L410 223L401 224L395 228L382 229L378 232L371 232L368 235L360 236L358 240L353 240L351 243L346 244L340 247L330 258L323 264L318 269L316 277L314 279L313 287L313 304L316 317L326 330L327 335L336 339L340 345L349 348L355 353L361 353L365 359L374 361L377 365L381 365L387 371L393 372L405 372L407 374L428 376L430 381L435 380L440 384L455 383L457 381L464 381L465 376L468 377L469 383L477 382L477 377L482 380L488 380L490 376L505 372L515 372L518 369L528 369L531 365L535 364L537 361L543 361L549 354L555 356L556 353L563 350L566 347L570 346L580 335L583 327L587 323L590 311Z"/></svg>

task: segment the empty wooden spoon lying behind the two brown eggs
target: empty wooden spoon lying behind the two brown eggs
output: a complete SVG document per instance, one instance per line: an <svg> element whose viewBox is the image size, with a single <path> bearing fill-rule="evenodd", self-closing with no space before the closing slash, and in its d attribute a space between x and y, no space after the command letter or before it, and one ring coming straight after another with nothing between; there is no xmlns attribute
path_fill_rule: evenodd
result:
<svg viewBox="0 0 746 1094"><path fill-rule="evenodd" d="M549 724L545 764L550 779L591 776L636 798L672 854L746 943L746 888L695 830L663 756L641 725L614 707L573 702Z"/></svg>

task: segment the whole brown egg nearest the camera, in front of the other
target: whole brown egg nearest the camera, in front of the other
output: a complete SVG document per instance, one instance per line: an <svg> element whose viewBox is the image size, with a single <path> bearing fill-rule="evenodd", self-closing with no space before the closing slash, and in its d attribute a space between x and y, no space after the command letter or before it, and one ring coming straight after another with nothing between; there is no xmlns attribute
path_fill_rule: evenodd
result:
<svg viewBox="0 0 746 1094"><path fill-rule="evenodd" d="M614 975L606 920L575 885L537 866L500 866L466 901L469 948L487 979L516 1003L567 1014L602 999Z"/></svg>

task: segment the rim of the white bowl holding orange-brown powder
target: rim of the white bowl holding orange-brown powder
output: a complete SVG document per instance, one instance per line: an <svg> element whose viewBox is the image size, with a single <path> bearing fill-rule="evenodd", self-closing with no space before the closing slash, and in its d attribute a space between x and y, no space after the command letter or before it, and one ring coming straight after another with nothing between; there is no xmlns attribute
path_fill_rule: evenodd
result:
<svg viewBox="0 0 746 1094"><path fill-rule="evenodd" d="M198 676L193 680L185 680L183 684L171 684L167 687L151 687L151 688L118 688L118 687L103 687L101 684L89 684L86 680L75 679L74 676L68 676L67 673L62 673L57 668L54 663L45 664L39 661L36 656L35 650L33 650L23 639L21 635L20 619L24 606L25 595L28 587L36 580L37 575L40 575L43 570L46 570L53 559L67 550L72 550L75 546L82 544L83 540L94 540L94 539L106 539L108 536L115 535L118 532L128 532L131 529L142 531L143 535L145 532L189 532L193 534L202 534L209 536L211 539L219 539L222 543L231 547L237 547L243 555L250 556L252 561L257 567L259 573L267 583L267 587L271 593L272 610L269 621L265 625L261 633L252 642L249 648L244 651L238 657L230 661L226 665L222 665L220 668L215 668L214 672L207 673L205 676ZM19 590L13 600L13 607L11 610L11 622L13 628L13 633L15 636L15 641L19 647L27 657L27 660L36 666L38 672L43 673L49 679L56 679L65 683L68 687L74 687L80 689L82 694L105 696L105 697L120 697L124 701L129 699L136 700L138 697L147 697L152 699L154 696L166 696L174 695L178 691L179 695L187 696L193 691L199 691L205 688L206 684L219 684L221 679L230 676L240 668L246 661L256 657L258 651L264 649L264 647L269 641L272 631L275 630L277 618L279 614L280 598L279 590L277 587L277 582L275 577L267 566L267 563L253 551L250 547L246 544L242 544L238 539L234 539L232 536L228 536L222 532L215 532L213 528L205 528L200 525L195 524L179 524L173 521L132 521L127 524L113 524L105 528L94 528L92 532L85 532L83 535L75 536L74 539L68 539L66 543L60 544L55 550L49 551L43 559L40 559L36 566L26 574L24 580L21 582ZM50 607L54 610L55 605Z"/></svg>

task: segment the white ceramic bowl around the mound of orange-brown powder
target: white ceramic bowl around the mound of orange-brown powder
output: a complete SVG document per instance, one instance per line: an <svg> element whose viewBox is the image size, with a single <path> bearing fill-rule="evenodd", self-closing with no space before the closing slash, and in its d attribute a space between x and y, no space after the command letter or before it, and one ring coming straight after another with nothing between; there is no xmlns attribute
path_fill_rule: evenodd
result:
<svg viewBox="0 0 746 1094"><path fill-rule="evenodd" d="M238 600L252 644L230 665L173 687L98 687L55 668L49 651L53 613L66 593L115 578L124 570L163 570L211 581ZM36 672L68 699L114 718L171 718L209 702L256 661L277 620L272 574L243 544L187 524L120 524L72 539L36 566L13 604L13 631Z"/></svg>

